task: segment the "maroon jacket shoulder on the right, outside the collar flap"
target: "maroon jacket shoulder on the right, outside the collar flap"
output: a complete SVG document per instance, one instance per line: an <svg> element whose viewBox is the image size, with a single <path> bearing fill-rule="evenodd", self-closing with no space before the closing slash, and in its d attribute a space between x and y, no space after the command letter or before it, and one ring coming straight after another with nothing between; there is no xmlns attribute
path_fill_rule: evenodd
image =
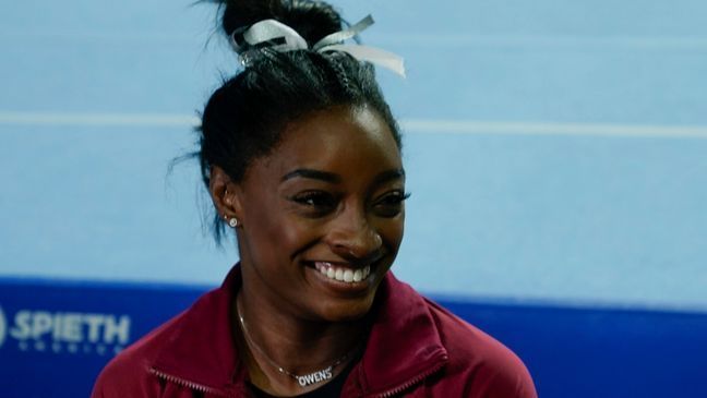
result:
<svg viewBox="0 0 707 398"><path fill-rule="evenodd" d="M448 353L443 378L464 381L465 397L537 398L520 359L499 340L424 299Z"/></svg>

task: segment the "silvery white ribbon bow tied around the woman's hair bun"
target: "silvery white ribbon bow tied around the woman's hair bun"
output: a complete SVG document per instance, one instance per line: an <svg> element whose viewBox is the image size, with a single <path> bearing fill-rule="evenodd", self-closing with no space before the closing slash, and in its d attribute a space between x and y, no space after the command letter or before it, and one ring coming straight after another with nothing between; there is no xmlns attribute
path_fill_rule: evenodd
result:
<svg viewBox="0 0 707 398"><path fill-rule="evenodd" d="M344 44L345 40L354 38L372 24L373 17L368 15L347 29L325 36L312 46L312 50L322 53L329 51L347 52L359 61L381 65L405 77L405 64L403 58L398 55L374 47ZM295 51L309 48L307 40L302 36L276 20L263 20L248 28L233 32L230 36L230 44L233 50L240 55L243 64L248 64L251 50L269 48L275 51Z"/></svg>

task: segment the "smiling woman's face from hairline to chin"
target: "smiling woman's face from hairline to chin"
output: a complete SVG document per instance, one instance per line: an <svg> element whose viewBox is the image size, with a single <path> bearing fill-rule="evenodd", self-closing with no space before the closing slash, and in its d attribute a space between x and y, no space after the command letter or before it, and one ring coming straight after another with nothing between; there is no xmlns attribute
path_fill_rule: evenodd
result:
<svg viewBox="0 0 707 398"><path fill-rule="evenodd" d="M368 108L290 123L236 189L243 289L312 321L363 316L393 264L405 173L391 130Z"/></svg>

